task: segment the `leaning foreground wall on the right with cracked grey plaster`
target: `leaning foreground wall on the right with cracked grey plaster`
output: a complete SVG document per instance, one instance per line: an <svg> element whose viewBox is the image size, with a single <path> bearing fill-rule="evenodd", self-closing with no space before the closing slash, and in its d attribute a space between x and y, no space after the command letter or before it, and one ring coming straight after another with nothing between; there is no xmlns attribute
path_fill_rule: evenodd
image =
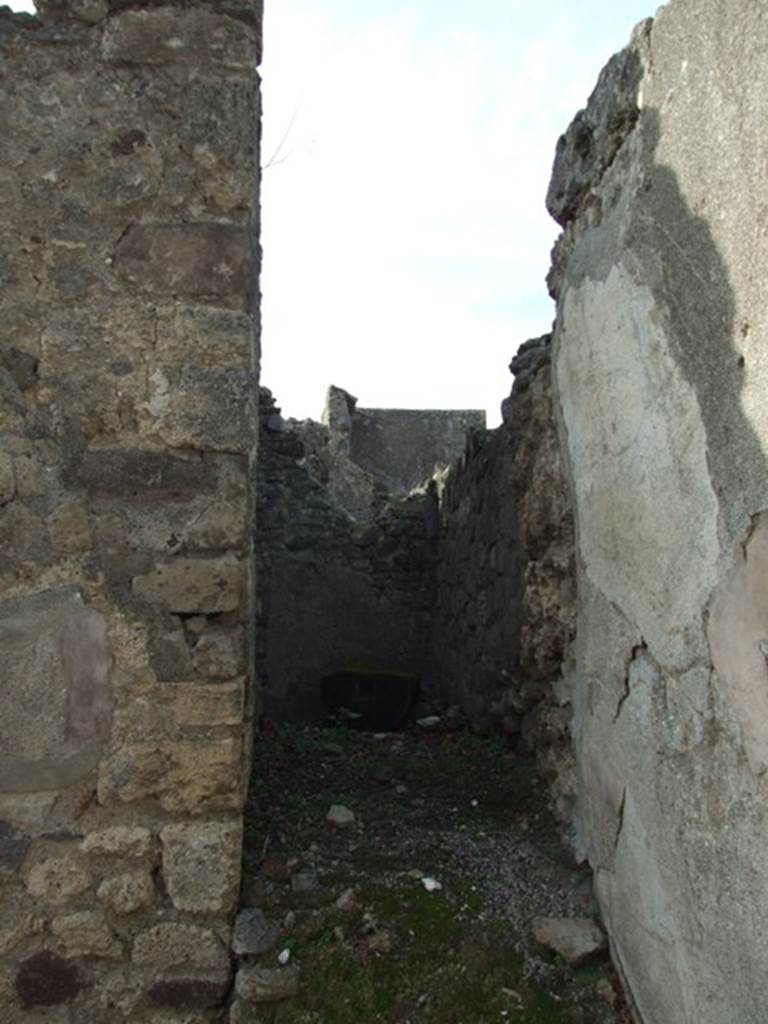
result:
<svg viewBox="0 0 768 1024"><path fill-rule="evenodd" d="M553 176L575 822L643 1024L765 1016L767 46L762 5L672 0L590 100L634 126Z"/></svg>

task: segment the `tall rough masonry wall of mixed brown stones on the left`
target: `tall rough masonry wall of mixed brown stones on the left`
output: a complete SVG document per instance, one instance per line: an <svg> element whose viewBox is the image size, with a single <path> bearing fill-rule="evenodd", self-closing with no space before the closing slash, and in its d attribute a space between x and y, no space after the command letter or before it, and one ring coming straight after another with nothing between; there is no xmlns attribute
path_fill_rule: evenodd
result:
<svg viewBox="0 0 768 1024"><path fill-rule="evenodd" d="M0 9L0 1019L203 1024L248 762L260 8L39 6Z"/></svg>

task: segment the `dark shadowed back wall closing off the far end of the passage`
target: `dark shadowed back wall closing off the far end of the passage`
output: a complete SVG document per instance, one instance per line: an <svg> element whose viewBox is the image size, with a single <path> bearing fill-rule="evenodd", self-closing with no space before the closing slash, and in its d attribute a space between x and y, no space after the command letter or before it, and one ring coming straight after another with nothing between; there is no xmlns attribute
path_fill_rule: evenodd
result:
<svg viewBox="0 0 768 1024"><path fill-rule="evenodd" d="M284 421L266 389L260 417L256 664L266 714L322 719L321 681L342 671L427 682L434 489L388 502L331 431Z"/></svg>

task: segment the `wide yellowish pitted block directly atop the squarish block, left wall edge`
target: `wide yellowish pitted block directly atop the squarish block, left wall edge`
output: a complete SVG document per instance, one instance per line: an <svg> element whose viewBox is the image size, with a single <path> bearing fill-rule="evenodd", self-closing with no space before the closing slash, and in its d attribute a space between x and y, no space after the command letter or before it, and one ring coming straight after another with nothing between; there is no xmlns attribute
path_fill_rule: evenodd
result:
<svg viewBox="0 0 768 1024"><path fill-rule="evenodd" d="M154 799L176 814L237 810L242 759L241 736L129 744L102 762L98 799L101 804Z"/></svg>

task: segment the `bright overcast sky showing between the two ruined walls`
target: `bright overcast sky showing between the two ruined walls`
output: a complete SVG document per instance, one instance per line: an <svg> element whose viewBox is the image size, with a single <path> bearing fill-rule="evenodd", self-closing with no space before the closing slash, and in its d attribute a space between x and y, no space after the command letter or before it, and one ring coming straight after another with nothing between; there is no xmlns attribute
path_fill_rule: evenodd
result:
<svg viewBox="0 0 768 1024"><path fill-rule="evenodd" d="M262 382L290 416L337 384L497 423L552 321L557 137L656 4L265 6Z"/></svg>

